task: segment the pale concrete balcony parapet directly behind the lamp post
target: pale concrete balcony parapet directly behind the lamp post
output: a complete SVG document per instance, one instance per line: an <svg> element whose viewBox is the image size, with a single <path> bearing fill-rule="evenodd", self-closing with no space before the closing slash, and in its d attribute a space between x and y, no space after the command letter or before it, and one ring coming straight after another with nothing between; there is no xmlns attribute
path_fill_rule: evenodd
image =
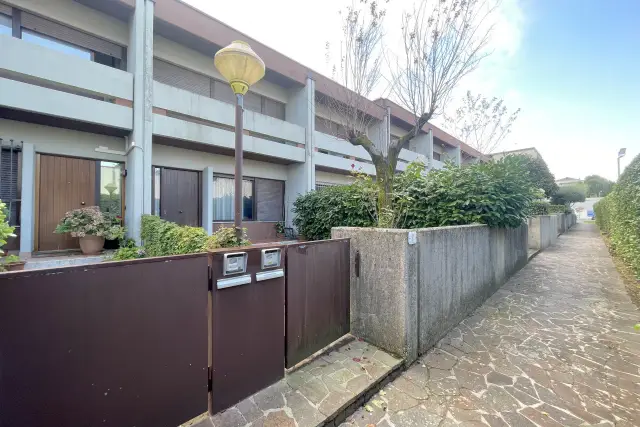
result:
<svg viewBox="0 0 640 427"><path fill-rule="evenodd" d="M233 150L235 106L154 82L154 136ZM244 151L287 163L305 161L305 129L260 113L244 112Z"/></svg>

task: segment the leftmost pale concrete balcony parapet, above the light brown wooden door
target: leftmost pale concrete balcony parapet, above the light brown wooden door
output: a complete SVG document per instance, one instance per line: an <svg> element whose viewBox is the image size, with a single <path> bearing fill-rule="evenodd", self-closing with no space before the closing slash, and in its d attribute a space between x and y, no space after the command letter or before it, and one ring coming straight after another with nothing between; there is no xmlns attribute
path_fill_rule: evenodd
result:
<svg viewBox="0 0 640 427"><path fill-rule="evenodd" d="M133 75L0 35L0 107L131 130Z"/></svg>

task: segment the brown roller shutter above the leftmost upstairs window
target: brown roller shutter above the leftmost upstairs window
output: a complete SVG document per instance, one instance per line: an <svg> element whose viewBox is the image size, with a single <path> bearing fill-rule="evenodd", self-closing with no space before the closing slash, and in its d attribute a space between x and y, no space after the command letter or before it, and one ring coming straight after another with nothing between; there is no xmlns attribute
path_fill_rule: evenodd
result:
<svg viewBox="0 0 640 427"><path fill-rule="evenodd" d="M28 30L50 36L114 58L124 58L124 48L115 43L75 30L30 13L22 13L22 26Z"/></svg>

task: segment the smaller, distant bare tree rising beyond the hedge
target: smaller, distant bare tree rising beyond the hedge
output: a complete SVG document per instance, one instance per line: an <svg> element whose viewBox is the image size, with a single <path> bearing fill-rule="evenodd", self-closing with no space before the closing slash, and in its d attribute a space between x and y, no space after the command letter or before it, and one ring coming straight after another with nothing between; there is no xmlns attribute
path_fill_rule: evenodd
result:
<svg viewBox="0 0 640 427"><path fill-rule="evenodd" d="M520 109L509 112L504 101L467 91L454 115L445 114L445 128L483 154L493 153L511 132Z"/></svg>

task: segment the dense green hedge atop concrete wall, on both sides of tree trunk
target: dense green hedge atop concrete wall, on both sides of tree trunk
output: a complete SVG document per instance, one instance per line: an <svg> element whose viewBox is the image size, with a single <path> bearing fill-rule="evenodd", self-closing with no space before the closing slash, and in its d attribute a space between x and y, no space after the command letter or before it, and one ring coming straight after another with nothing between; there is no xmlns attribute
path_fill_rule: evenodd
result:
<svg viewBox="0 0 640 427"><path fill-rule="evenodd" d="M447 167L424 174L414 163L394 180L395 228L487 224L518 227L530 204L539 198L524 161L508 156L496 162ZM300 196L294 203L294 224L307 239L326 239L332 227L373 227L377 187L370 178Z"/></svg>

